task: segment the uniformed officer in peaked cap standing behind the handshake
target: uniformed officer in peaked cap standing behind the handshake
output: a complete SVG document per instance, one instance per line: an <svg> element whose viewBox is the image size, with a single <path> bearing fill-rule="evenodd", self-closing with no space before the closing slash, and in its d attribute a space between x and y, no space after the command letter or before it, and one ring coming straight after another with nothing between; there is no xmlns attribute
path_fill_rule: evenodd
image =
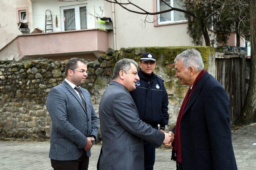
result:
<svg viewBox="0 0 256 170"><path fill-rule="evenodd" d="M140 58L140 81L136 83L136 89L131 96L136 104L140 119L153 128L165 132L168 124L168 95L164 87L164 79L154 74L156 57L152 53L144 53ZM153 170L156 148L144 141L144 168Z"/></svg>

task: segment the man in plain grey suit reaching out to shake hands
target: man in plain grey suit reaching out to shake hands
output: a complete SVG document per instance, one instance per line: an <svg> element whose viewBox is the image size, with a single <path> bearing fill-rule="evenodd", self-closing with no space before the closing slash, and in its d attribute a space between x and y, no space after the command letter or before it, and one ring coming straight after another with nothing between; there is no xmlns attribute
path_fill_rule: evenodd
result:
<svg viewBox="0 0 256 170"><path fill-rule="evenodd" d="M138 64L121 59L114 67L110 82L100 101L102 150L98 160L100 170L143 170L143 140L160 147L171 145L174 134L163 133L140 120L130 91L140 80Z"/></svg>

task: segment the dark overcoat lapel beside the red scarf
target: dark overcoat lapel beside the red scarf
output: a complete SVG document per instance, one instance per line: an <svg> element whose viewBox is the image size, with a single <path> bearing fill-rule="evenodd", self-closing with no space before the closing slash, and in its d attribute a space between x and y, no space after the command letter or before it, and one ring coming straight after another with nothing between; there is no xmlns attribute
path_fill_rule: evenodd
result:
<svg viewBox="0 0 256 170"><path fill-rule="evenodd" d="M194 91L191 94L190 100L188 101L184 114L186 114L186 111L190 108L190 106L195 102L196 98L199 96L204 86L204 83L209 76L210 74L206 71L205 74L202 76L202 78L198 81L198 84L196 85Z"/></svg>

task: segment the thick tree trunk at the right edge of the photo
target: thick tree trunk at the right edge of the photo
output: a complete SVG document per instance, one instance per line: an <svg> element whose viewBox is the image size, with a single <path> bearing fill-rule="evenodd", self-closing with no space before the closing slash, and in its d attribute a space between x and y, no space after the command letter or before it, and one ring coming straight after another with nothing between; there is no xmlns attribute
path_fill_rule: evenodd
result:
<svg viewBox="0 0 256 170"><path fill-rule="evenodd" d="M251 68L250 82L242 114L236 124L256 122L256 0L250 0Z"/></svg>

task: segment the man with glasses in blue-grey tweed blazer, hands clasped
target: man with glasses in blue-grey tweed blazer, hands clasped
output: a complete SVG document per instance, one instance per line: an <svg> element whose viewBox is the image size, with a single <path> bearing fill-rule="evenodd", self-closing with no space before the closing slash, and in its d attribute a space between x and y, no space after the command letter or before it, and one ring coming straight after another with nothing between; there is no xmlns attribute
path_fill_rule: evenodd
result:
<svg viewBox="0 0 256 170"><path fill-rule="evenodd" d="M54 170L87 170L98 118L88 90L80 87L88 76L86 61L70 59L65 74L46 100L52 119L49 158Z"/></svg>

